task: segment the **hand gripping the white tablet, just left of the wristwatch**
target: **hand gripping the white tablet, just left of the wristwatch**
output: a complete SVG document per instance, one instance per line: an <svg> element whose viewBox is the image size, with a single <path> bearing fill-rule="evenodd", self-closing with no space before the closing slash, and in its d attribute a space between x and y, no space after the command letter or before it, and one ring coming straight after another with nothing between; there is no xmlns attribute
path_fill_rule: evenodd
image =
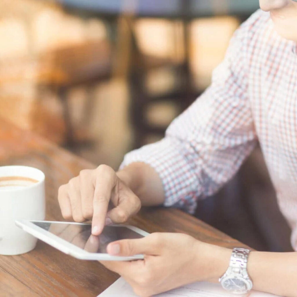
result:
<svg viewBox="0 0 297 297"><path fill-rule="evenodd" d="M232 250L198 241L181 233L152 233L141 239L110 243L110 255L144 254L144 260L100 261L120 274L141 297L159 294L197 281L218 281Z"/></svg>

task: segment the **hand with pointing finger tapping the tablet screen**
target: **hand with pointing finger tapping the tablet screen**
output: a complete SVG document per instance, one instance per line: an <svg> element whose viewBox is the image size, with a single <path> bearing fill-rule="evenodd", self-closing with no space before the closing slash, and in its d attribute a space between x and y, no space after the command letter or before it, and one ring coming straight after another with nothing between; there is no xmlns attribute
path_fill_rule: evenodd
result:
<svg viewBox="0 0 297 297"><path fill-rule="evenodd" d="M91 219L93 235L99 235L112 222L126 222L141 207L139 198L107 165L80 171L79 176L59 188L58 200L64 219ZM110 211L109 202L114 206Z"/></svg>

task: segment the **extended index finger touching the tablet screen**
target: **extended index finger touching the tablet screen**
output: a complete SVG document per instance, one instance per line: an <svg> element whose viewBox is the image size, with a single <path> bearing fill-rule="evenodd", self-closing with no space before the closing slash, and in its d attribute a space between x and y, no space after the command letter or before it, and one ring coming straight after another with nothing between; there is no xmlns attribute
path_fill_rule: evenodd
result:
<svg viewBox="0 0 297 297"><path fill-rule="evenodd" d="M105 225L111 192L116 185L116 173L107 165L100 165L96 172L93 198L92 234L99 235Z"/></svg>

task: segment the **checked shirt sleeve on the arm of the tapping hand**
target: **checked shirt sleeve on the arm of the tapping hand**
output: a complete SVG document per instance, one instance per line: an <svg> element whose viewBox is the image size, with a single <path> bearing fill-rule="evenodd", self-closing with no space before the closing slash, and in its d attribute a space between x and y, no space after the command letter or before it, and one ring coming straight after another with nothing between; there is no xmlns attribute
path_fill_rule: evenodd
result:
<svg viewBox="0 0 297 297"><path fill-rule="evenodd" d="M239 28L211 86L168 127L165 138L129 152L120 168L145 162L159 174L165 206L193 213L236 173L255 146L248 98L249 23Z"/></svg>

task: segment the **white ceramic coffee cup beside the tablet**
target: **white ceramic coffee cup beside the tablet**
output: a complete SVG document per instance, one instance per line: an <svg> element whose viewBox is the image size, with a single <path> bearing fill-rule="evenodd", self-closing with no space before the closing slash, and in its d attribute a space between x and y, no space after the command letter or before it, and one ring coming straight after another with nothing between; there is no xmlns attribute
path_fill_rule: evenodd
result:
<svg viewBox="0 0 297 297"><path fill-rule="evenodd" d="M0 255L19 255L35 248L37 239L15 225L17 219L45 219L45 176L26 166L0 167L0 178L35 180L26 185L0 186Z"/></svg>

